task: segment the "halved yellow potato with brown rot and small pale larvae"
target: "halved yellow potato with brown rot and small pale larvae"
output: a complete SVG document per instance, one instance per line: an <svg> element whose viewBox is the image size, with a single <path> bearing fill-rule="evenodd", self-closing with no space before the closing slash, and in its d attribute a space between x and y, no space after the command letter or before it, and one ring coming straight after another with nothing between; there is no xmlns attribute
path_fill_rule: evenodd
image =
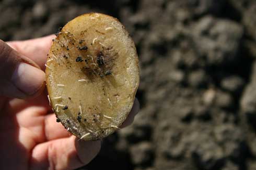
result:
<svg viewBox="0 0 256 170"><path fill-rule="evenodd" d="M117 130L132 109L139 84L131 37L115 18L84 14L68 22L48 55L51 106L65 128L83 140Z"/></svg>

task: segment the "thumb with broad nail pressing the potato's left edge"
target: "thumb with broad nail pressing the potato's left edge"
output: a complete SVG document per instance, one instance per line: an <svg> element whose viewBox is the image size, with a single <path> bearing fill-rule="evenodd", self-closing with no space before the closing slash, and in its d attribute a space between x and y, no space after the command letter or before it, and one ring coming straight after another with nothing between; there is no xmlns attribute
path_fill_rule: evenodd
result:
<svg viewBox="0 0 256 170"><path fill-rule="evenodd" d="M29 58L0 40L0 96L28 98L44 88L45 74Z"/></svg>

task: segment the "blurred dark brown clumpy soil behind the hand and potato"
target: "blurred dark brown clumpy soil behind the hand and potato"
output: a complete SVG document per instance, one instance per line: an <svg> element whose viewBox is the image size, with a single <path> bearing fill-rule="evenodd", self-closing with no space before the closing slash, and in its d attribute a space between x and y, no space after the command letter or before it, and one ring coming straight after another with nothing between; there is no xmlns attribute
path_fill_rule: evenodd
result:
<svg viewBox="0 0 256 170"><path fill-rule="evenodd" d="M141 111L80 169L256 169L256 1L2 0L0 11L4 41L86 12L117 17L133 37Z"/></svg>

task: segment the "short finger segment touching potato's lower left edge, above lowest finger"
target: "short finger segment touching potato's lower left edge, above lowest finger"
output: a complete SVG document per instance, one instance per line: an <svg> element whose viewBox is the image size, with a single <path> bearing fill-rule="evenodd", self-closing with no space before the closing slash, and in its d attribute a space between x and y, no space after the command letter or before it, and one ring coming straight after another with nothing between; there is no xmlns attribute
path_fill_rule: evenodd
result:
<svg viewBox="0 0 256 170"><path fill-rule="evenodd" d="M56 122L56 116L54 113L45 116L44 129L46 140L54 140L71 136L60 122Z"/></svg>

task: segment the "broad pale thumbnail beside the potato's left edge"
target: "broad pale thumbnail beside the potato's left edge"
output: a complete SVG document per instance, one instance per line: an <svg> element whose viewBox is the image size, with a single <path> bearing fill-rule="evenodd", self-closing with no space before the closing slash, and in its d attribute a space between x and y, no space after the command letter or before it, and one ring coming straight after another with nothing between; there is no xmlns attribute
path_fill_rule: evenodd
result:
<svg viewBox="0 0 256 170"><path fill-rule="evenodd" d="M27 63L21 62L14 71L11 81L27 95L35 94L43 85L45 74Z"/></svg>

